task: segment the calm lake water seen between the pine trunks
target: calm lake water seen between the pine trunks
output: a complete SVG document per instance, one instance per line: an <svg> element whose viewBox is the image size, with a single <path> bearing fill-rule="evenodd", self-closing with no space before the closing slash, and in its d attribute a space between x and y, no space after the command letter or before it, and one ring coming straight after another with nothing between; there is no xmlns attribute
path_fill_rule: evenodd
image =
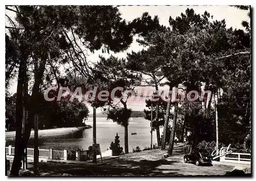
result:
<svg viewBox="0 0 256 181"><path fill-rule="evenodd" d="M86 124L93 125L93 118L88 118ZM124 127L114 123L112 120L106 120L106 118L97 118L96 121L96 139L100 144L101 151L109 149L111 142L114 142L116 133L119 135L120 145L124 151ZM132 118L128 126L128 145L129 152L133 151L133 148L139 146L141 149L144 147L150 147L151 133L150 133L150 121L143 118ZM132 135L131 132L137 132ZM160 133L162 129L160 129ZM39 137L39 148L49 149L70 149L70 148L82 148L88 149L93 142L93 128L77 131L67 135L51 135L49 137ZM153 131L153 144L157 143L156 131ZM6 145L14 145L14 141L6 141ZM33 148L33 139L29 140L28 148Z"/></svg>

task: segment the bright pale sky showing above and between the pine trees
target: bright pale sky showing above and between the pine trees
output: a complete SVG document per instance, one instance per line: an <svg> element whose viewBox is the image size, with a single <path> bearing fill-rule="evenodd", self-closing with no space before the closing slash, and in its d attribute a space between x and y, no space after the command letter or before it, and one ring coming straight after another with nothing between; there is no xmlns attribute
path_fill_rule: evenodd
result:
<svg viewBox="0 0 256 181"><path fill-rule="evenodd" d="M120 6L118 7L121 17L123 19L126 19L127 21L132 21L133 19L140 17L143 12L148 12L152 17L157 15L159 17L159 22L161 25L164 25L166 27L169 26L168 20L169 16L172 16L172 18L176 18L177 16L180 16L181 13L185 13L185 10L187 8L193 8L195 10L196 14L203 14L205 11L210 13L210 15L213 15L214 20L226 20L226 27L230 28L233 27L233 29L243 29L241 26L241 22L243 20L249 20L247 16L247 11L239 10L234 7L230 6ZM12 12L7 12L8 15L13 17L14 14ZM135 41L137 37L134 37L134 42L131 44L130 48L127 49L124 52L121 53L102 53L101 51L96 51L94 54L89 54L88 60L95 62L98 61L99 55L102 55L106 58L108 58L111 54L119 57L119 58L125 58L127 53L131 53L132 50L134 52L138 52L142 50L142 47L139 46L139 44ZM16 93L17 83L14 81L13 85L10 88L10 93L14 94ZM148 87L148 89L152 90L153 87ZM168 89L168 87L162 87L160 88L162 90ZM133 110L144 110L145 103L142 101L134 104L130 103L127 104L128 108L132 108ZM89 106L90 114L92 113L92 107Z"/></svg>

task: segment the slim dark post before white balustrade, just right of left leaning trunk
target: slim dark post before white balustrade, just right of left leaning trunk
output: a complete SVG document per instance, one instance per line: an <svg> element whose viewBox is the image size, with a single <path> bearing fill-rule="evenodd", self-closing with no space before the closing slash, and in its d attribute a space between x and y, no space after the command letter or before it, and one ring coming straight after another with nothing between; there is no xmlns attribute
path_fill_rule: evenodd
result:
<svg viewBox="0 0 256 181"><path fill-rule="evenodd" d="M34 173L38 175L38 117L34 116Z"/></svg>

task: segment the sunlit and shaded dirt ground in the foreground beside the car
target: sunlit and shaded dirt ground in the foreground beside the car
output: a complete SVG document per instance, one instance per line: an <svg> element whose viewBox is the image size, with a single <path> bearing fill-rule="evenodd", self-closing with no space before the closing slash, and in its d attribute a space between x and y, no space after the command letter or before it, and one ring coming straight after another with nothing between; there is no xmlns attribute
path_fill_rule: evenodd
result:
<svg viewBox="0 0 256 181"><path fill-rule="evenodd" d="M182 149L175 148L172 156L164 158L166 150L148 150L121 155L118 159L104 161L103 165L74 165L64 163L39 163L40 175L54 176L68 173L81 176L129 175L225 175L233 166L184 163ZM33 170L33 163L28 167Z"/></svg>

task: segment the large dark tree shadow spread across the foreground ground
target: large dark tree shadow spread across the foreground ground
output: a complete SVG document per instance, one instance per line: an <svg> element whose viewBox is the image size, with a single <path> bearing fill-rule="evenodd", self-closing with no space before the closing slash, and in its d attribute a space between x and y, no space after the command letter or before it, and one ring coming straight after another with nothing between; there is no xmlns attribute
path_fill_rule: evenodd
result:
<svg viewBox="0 0 256 181"><path fill-rule="evenodd" d="M118 159L114 162L105 163L104 165L74 165L74 164L56 164L56 163L39 163L41 173L44 175L60 175L68 173L80 176L126 176L126 175L183 175L178 173L179 169L161 169L161 165L173 165L177 161L167 161L165 159L150 160L124 160Z"/></svg>

